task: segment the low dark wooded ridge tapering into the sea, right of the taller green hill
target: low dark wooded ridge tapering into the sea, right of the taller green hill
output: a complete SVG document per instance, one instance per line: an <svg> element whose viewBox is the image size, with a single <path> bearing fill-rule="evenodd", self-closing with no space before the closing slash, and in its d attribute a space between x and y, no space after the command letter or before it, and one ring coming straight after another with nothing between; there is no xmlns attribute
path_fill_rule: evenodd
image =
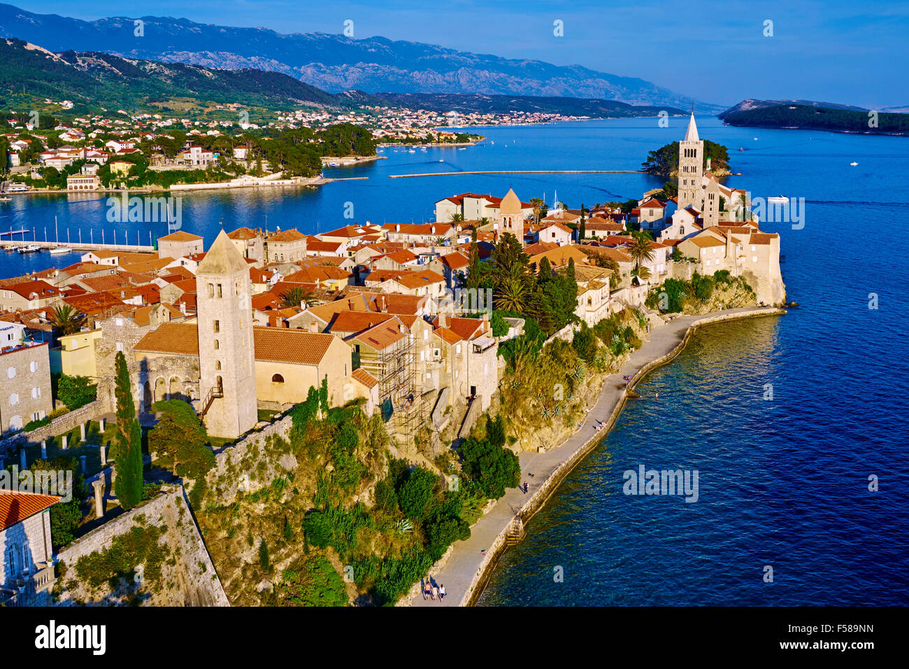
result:
<svg viewBox="0 0 909 669"><path fill-rule="evenodd" d="M661 111L683 115L682 109L672 106L632 106L624 102L602 99L583 99L564 96L484 96L460 93L376 93L396 106L431 111L464 113L539 112L564 116L619 118L654 117Z"/></svg>

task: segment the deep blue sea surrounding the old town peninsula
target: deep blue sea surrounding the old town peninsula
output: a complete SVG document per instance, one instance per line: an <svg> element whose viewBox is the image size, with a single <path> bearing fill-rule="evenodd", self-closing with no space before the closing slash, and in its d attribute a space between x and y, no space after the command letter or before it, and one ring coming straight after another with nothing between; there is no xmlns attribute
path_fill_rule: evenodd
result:
<svg viewBox="0 0 909 669"><path fill-rule="evenodd" d="M475 147L386 148L375 164L326 171L369 177L321 188L184 195L182 228L211 243L223 227L299 228L430 220L440 198L473 191L578 207L639 197L641 174L389 175L477 169L637 169L684 135L685 121L617 119L484 128ZM528 523L481 597L499 604L909 603L909 316L901 255L909 139L724 127L727 184L804 198L804 227L780 232L789 299L779 318L702 329L639 386L612 432ZM739 151L739 147L744 150ZM851 162L857 162L855 167ZM32 196L0 204L0 232L81 234L147 243L164 223L112 224L106 198ZM344 218L353 204L354 218ZM46 230L46 233L45 233ZM55 230L58 232L55 233ZM17 236L16 238L20 238ZM31 238L29 234L26 238ZM0 253L0 277L51 258ZM869 303L876 299L876 309ZM764 399L772 390L773 399ZM697 502L629 496L623 472L697 470ZM877 481L870 492L869 477ZM767 568L773 581L767 582ZM561 568L556 570L556 568ZM556 583L554 573L564 574Z"/></svg>

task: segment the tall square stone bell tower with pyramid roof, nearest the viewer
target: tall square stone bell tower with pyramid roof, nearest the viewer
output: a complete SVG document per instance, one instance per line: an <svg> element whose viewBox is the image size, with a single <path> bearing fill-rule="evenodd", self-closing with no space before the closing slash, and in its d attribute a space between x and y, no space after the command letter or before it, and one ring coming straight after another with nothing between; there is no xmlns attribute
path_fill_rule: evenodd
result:
<svg viewBox="0 0 909 669"><path fill-rule="evenodd" d="M195 272L199 412L215 437L255 427L255 349L249 265L224 230Z"/></svg>

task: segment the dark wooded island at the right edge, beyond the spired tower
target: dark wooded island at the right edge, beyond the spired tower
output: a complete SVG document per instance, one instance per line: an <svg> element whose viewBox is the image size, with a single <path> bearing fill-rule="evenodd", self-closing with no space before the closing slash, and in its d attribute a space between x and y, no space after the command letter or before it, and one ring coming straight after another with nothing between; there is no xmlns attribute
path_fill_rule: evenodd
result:
<svg viewBox="0 0 909 669"><path fill-rule="evenodd" d="M753 105L766 102L745 100L719 115L730 126L780 127L832 132L872 133L882 135L909 134L909 114L877 113L873 119L868 109L850 106L824 106L784 103L782 105ZM872 123L876 120L876 124Z"/></svg>

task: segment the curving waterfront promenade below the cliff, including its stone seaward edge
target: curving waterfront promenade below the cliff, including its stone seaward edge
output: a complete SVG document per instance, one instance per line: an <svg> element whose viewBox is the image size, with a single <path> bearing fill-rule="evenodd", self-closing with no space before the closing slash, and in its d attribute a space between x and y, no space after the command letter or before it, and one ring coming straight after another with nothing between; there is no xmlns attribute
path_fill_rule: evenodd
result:
<svg viewBox="0 0 909 669"><path fill-rule="evenodd" d="M634 386L650 370L672 360L684 348L694 329L701 325L784 313L784 309L769 307L724 309L710 314L680 316L652 329L644 345L631 354L620 370L604 380L596 404L588 411L578 431L548 451L520 453L519 481L527 481L529 491L525 494L516 488L508 489L504 497L474 524L467 541L454 542L447 560L444 558L445 566L438 572L430 571L429 575L435 583L445 584L445 600L442 603L429 599L424 601L417 584L407 595L410 603L414 606L469 606L475 602L497 556L504 550L508 533L517 526L523 527L523 522L543 506L574 465L583 460L612 429L626 399L624 376L631 376L632 383L629 385ZM606 423L606 429L594 431L596 421ZM534 475L529 476L531 473Z"/></svg>

